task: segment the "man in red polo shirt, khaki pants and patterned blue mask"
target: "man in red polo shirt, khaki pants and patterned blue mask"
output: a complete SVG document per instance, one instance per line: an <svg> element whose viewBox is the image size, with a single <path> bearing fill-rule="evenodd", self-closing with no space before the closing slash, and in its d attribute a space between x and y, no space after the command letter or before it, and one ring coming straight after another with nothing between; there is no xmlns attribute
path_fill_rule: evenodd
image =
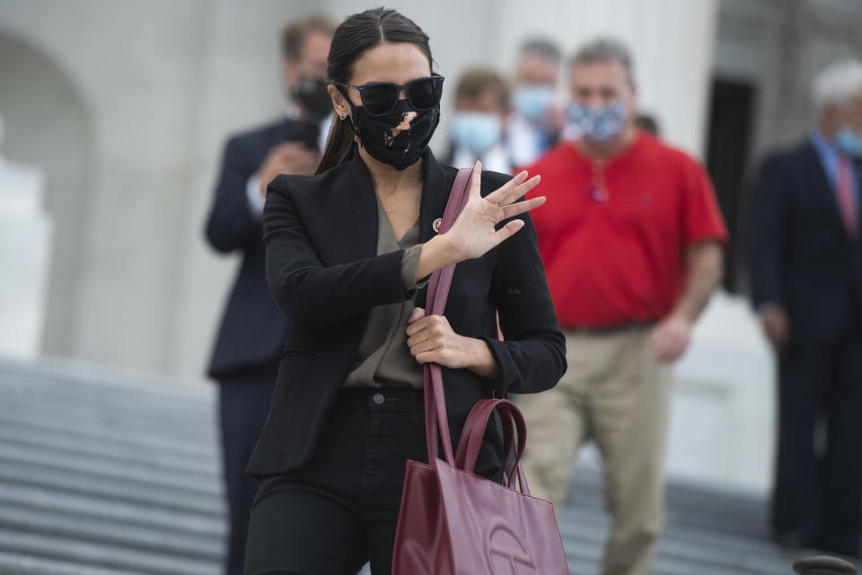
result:
<svg viewBox="0 0 862 575"><path fill-rule="evenodd" d="M558 507L577 448L602 454L611 536L603 575L647 574L662 525L670 366L721 277L727 232L708 176L634 125L629 51L595 40L571 60L575 141L533 164L532 215L568 372L523 396L532 492Z"/></svg>

